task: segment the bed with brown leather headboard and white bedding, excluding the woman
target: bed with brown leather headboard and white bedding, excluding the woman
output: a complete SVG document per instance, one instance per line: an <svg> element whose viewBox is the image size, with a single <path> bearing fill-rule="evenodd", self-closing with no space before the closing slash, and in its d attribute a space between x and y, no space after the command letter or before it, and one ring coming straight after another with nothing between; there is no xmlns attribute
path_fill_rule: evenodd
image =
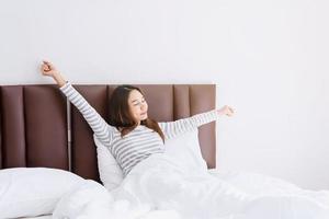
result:
<svg viewBox="0 0 329 219"><path fill-rule="evenodd" d="M149 117L158 122L190 117L216 105L215 84L136 85L145 93ZM115 87L75 85L105 119ZM186 162L188 148L177 160L152 155L109 193L101 185L100 147L95 147L93 132L56 85L0 87L0 218L329 218L328 191L305 191L253 173L209 174L216 168L214 122L201 126L195 138L191 135L180 140L180 145L192 138L197 141L193 147L197 147L204 168L198 170L197 163L185 174L177 166ZM156 208L148 200L156 203Z"/></svg>

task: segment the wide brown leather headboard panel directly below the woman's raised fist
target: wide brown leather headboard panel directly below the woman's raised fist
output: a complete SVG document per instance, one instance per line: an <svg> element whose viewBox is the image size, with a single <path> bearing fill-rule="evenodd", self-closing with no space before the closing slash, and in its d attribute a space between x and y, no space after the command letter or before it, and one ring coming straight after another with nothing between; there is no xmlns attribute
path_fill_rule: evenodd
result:
<svg viewBox="0 0 329 219"><path fill-rule="evenodd" d="M68 170L67 110L57 87L24 87L24 106L27 166Z"/></svg>

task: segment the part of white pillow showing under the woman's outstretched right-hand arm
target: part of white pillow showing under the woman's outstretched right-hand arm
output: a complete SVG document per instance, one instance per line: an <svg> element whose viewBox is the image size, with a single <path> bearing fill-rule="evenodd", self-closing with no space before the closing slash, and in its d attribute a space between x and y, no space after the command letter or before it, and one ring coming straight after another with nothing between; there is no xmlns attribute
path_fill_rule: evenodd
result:
<svg viewBox="0 0 329 219"><path fill-rule="evenodd" d="M207 171L207 164L202 158L198 145L198 129L195 128L175 138L166 139L166 153L174 159L185 171Z"/></svg>

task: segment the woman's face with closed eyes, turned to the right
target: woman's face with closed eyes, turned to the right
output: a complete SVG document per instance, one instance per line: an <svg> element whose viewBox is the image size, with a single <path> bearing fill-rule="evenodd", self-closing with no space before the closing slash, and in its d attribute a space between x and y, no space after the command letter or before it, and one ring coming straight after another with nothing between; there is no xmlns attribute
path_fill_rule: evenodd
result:
<svg viewBox="0 0 329 219"><path fill-rule="evenodd" d="M140 123L140 120L147 118L148 105L143 94L139 91L137 90L131 91L128 97L128 105L129 105L129 112L134 117L134 119L137 120L137 123Z"/></svg>

